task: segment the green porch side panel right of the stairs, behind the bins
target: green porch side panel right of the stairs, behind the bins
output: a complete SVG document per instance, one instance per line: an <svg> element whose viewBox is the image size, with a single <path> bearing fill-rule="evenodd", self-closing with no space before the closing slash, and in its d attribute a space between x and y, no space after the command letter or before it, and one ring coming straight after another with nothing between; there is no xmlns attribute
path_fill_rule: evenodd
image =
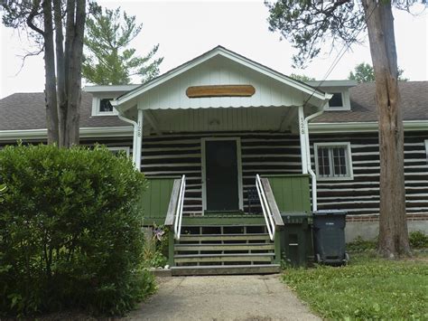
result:
<svg viewBox="0 0 428 321"><path fill-rule="evenodd" d="M280 212L311 212L309 175L265 175Z"/></svg>

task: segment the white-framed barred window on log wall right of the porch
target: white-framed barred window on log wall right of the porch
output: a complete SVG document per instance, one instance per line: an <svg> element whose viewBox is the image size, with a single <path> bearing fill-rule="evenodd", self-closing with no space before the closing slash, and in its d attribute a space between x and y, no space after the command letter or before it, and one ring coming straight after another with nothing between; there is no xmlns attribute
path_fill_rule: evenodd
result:
<svg viewBox="0 0 428 321"><path fill-rule="evenodd" d="M319 180L353 179L349 143L316 143L314 148Z"/></svg>

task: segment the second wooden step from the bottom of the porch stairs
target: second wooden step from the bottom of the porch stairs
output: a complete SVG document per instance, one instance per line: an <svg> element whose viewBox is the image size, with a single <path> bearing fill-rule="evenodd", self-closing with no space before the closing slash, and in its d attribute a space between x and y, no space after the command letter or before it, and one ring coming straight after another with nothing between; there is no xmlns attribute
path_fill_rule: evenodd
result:
<svg viewBox="0 0 428 321"><path fill-rule="evenodd" d="M174 255L174 262L271 262L273 258L274 253L177 254Z"/></svg>

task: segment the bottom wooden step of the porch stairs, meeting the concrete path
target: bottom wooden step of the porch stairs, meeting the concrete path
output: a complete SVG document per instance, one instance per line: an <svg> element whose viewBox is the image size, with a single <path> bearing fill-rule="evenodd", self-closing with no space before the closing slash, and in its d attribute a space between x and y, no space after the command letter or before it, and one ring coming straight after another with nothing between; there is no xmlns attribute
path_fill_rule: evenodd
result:
<svg viewBox="0 0 428 321"><path fill-rule="evenodd" d="M179 275L228 275L228 274L272 274L280 272L279 264L254 265L209 265L199 267L172 267L172 276Z"/></svg>

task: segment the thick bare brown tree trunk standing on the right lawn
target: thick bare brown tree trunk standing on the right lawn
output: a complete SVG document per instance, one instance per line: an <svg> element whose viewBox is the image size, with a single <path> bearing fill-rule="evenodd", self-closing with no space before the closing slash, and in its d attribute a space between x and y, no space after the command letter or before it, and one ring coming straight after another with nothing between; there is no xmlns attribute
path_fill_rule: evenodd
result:
<svg viewBox="0 0 428 321"><path fill-rule="evenodd" d="M404 129L398 90L391 3L363 0L375 70L379 122L380 204L377 250L386 258L410 255L405 214Z"/></svg>

